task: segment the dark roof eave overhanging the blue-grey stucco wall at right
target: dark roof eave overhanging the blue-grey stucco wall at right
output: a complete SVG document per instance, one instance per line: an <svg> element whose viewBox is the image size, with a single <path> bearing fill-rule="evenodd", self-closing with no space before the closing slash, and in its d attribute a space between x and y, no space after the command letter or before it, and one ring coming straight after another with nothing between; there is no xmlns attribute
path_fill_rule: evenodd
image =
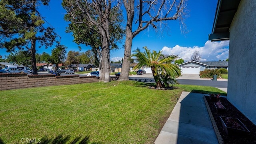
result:
<svg viewBox="0 0 256 144"><path fill-rule="evenodd" d="M229 40L229 28L241 0L218 0L209 40Z"/></svg>

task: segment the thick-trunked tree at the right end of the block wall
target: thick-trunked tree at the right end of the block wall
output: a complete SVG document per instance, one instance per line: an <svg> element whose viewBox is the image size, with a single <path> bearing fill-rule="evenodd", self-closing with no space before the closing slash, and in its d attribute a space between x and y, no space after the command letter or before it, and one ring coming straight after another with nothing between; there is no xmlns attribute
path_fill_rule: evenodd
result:
<svg viewBox="0 0 256 144"><path fill-rule="evenodd" d="M110 47L115 44L114 40L122 38L119 3L112 0L63 0L62 6L68 12L65 20L71 22L68 30L73 32L76 42L96 48L100 57L100 81L109 82ZM121 32L117 32L119 30Z"/></svg>

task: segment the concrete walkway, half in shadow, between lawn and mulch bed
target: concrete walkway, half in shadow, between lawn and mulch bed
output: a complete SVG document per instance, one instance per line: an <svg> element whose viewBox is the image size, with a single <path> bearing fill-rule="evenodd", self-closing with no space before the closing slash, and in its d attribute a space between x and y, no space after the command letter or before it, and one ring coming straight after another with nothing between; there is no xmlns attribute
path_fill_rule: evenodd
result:
<svg viewBox="0 0 256 144"><path fill-rule="evenodd" d="M203 94L182 92L154 144L218 144Z"/></svg>

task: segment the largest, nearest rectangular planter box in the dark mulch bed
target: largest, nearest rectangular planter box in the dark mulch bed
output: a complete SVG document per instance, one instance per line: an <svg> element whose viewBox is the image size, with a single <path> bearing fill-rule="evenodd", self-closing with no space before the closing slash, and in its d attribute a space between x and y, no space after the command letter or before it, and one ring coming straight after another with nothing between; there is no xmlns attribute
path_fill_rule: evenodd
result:
<svg viewBox="0 0 256 144"><path fill-rule="evenodd" d="M238 119L220 116L222 126L227 135L244 135L250 132L246 126Z"/></svg>

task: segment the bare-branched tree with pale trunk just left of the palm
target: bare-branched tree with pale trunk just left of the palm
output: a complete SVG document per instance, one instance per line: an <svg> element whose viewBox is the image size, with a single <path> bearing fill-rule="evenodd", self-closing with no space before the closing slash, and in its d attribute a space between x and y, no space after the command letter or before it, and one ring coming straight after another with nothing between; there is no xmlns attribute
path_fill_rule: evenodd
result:
<svg viewBox="0 0 256 144"><path fill-rule="evenodd" d="M119 80L129 80L129 70L131 63L132 39L141 31L152 26L159 28L162 22L167 20L180 20L180 26L184 26L183 18L185 0L124 0L126 9L126 39L124 48L124 60L122 72ZM136 2L136 3L137 3ZM134 22L137 28L134 28ZM159 25L158 25L159 24Z"/></svg>

